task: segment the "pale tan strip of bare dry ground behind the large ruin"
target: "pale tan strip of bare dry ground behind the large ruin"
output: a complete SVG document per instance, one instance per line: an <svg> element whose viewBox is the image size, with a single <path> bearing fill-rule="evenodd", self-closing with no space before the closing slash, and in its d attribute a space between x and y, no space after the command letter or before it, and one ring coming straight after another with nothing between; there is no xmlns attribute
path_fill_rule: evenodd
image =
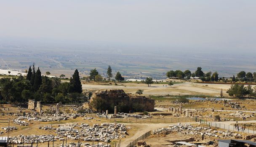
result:
<svg viewBox="0 0 256 147"><path fill-rule="evenodd" d="M183 82L168 86L168 84L152 84L148 87L143 83L117 83L112 85L108 83L82 82L83 89L103 90L103 89L123 89L126 93L135 94L138 89L144 89L143 95L209 95L219 97L221 89L224 96L228 96L226 91L230 88L229 84L200 84L192 82Z"/></svg>

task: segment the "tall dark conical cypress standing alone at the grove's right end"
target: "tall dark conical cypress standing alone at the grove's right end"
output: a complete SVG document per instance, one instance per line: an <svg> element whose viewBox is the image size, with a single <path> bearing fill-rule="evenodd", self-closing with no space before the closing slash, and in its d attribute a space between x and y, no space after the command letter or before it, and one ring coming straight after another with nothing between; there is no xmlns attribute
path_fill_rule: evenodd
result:
<svg viewBox="0 0 256 147"><path fill-rule="evenodd" d="M70 78L70 92L77 92L82 93L82 84L79 77L79 72L77 69L75 70L75 73L73 74L72 78Z"/></svg>

